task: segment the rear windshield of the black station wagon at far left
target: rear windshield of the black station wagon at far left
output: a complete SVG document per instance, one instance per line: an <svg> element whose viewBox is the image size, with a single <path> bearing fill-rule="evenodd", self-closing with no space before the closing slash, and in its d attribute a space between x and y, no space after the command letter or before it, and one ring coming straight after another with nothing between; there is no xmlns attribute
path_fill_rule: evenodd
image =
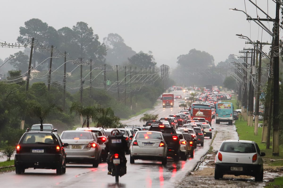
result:
<svg viewBox="0 0 283 188"><path fill-rule="evenodd" d="M52 136L52 134L48 133L40 133L40 132L35 132L35 133L28 133L25 134L23 139L22 139L23 144L54 144L57 143L56 138Z"/></svg>

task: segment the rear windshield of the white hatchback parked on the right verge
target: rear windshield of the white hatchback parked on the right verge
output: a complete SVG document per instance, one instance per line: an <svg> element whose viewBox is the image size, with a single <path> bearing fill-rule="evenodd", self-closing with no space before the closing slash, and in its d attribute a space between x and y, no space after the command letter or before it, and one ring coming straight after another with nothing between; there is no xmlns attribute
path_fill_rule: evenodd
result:
<svg viewBox="0 0 283 188"><path fill-rule="evenodd" d="M256 147L253 143L225 142L221 145L219 151L229 153L255 153Z"/></svg>

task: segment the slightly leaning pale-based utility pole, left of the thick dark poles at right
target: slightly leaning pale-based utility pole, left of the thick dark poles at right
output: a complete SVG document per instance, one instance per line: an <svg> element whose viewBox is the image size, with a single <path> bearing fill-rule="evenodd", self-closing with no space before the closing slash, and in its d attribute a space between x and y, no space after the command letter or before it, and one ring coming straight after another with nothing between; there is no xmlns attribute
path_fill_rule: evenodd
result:
<svg viewBox="0 0 283 188"><path fill-rule="evenodd" d="M260 43L260 50L262 49L262 43ZM255 108L255 119L254 119L254 135L258 135L258 111L260 107L260 79L261 79L261 52L260 61L258 63L258 87L256 89L256 108Z"/></svg>

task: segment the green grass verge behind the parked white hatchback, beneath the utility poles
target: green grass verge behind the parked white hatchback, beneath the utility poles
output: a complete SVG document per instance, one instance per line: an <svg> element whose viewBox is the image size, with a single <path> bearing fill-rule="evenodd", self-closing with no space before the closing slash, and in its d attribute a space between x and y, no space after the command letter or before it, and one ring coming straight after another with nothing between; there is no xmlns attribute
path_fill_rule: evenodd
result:
<svg viewBox="0 0 283 188"><path fill-rule="evenodd" d="M265 152L266 154L265 158L271 158L271 159L283 158L282 156L272 156L272 149L266 149L266 143L261 143L262 127L258 127L258 135L254 135L254 126L253 127L247 126L247 121L236 120L235 126L237 128L237 132L240 140L255 141L258 144L258 147L260 148L260 152ZM270 138L270 141L272 141L272 138ZM282 145L280 145L280 151L283 151Z"/></svg>

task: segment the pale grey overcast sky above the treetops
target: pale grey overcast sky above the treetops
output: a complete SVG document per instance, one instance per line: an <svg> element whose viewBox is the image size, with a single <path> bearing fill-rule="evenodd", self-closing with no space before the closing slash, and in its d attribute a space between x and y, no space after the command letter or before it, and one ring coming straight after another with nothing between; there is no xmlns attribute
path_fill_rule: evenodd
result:
<svg viewBox="0 0 283 188"><path fill-rule="evenodd" d="M254 2L256 0L253 0ZM151 50L158 65L177 65L177 57L190 49L206 51L213 55L215 64L225 61L229 54L239 54L245 45L243 34L252 40L261 40L261 28L246 21L243 12L256 18L256 7L248 0L60 0L60 1L1 1L0 41L16 42L20 26L38 18L55 29L72 28L76 22L86 22L98 34L100 41L109 33L117 33L136 52ZM272 0L258 0L271 17L275 17ZM268 9L267 9L268 3ZM264 14L257 11L261 18ZM272 28L272 22L266 26ZM281 34L282 35L282 34ZM271 42L263 31L262 41ZM265 47L268 52L269 47ZM19 50L0 49L5 59Z"/></svg>

